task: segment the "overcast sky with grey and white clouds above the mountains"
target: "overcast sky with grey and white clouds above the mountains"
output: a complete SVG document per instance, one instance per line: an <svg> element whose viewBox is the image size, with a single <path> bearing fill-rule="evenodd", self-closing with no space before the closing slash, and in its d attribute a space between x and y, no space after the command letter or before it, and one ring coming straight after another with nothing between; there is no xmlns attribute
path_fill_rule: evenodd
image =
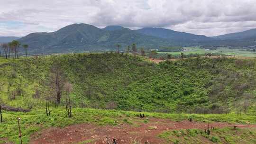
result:
<svg viewBox="0 0 256 144"><path fill-rule="evenodd" d="M217 36L256 28L256 0L0 0L0 36L52 32L73 23Z"/></svg>

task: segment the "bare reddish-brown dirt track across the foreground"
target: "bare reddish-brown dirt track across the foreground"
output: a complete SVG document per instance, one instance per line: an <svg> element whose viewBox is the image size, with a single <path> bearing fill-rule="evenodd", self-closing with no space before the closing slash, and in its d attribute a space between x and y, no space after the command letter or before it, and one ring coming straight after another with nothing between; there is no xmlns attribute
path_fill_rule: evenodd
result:
<svg viewBox="0 0 256 144"><path fill-rule="evenodd" d="M211 123L210 127L234 126L228 123ZM236 125L238 127L256 127L256 125ZM166 130L174 129L207 129L207 123L202 122L174 122L164 119L151 118L147 123L136 122L134 125L95 126L80 124L65 128L50 128L40 134L31 136L31 144L107 144L106 136L110 140L117 139L118 144L135 144L149 142L162 144L165 141L157 137ZM86 143L87 142L87 143Z"/></svg>

